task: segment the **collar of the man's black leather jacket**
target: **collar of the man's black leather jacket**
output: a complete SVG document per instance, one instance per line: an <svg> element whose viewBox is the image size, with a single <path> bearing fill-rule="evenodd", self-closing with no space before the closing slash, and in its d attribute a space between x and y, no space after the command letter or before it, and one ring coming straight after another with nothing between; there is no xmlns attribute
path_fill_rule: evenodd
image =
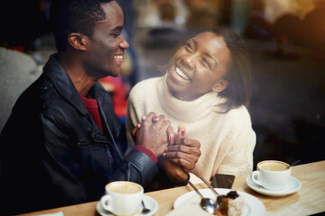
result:
<svg viewBox="0 0 325 216"><path fill-rule="evenodd" d="M70 76L60 65L57 60L57 54L52 54L48 62L43 67L44 74L51 80L52 85L57 89L59 94L71 103L83 115L88 113L88 110L83 103L75 85L73 85ZM102 93L98 89L98 84L95 84L91 91L94 93L95 98L100 99Z"/></svg>

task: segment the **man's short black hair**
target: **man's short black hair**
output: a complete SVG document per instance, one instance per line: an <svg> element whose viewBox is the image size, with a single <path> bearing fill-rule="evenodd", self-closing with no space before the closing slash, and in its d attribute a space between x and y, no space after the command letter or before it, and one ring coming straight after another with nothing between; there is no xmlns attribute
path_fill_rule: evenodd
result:
<svg viewBox="0 0 325 216"><path fill-rule="evenodd" d="M94 23L105 20L101 4L113 0L52 0L50 23L58 51L68 47L68 36L79 32L92 37Z"/></svg>

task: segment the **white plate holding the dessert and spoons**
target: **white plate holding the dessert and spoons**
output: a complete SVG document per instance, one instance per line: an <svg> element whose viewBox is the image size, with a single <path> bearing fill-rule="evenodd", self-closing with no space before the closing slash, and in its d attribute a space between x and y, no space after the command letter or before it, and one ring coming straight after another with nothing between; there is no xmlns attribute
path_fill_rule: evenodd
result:
<svg viewBox="0 0 325 216"><path fill-rule="evenodd" d="M230 189L226 189L226 188L215 188L215 189L219 194L227 194L228 192L231 191ZM216 195L209 188L200 189L199 191L200 193L202 193L204 197L216 199ZM176 209L177 207L179 207L181 203L186 202L188 199L190 199L190 197L194 193L195 191L191 191L189 193L184 193L181 196L179 196L176 199L176 201L173 203L173 208ZM258 200L255 196L240 191L237 191L237 193L244 198L244 202L245 202L244 210L241 216L247 216L247 215L262 216L265 214L264 204L260 200Z"/></svg>

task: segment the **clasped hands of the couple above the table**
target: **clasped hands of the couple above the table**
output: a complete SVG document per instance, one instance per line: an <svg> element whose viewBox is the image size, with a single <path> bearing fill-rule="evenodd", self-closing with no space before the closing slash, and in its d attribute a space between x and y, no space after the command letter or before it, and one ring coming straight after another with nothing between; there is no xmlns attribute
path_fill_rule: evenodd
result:
<svg viewBox="0 0 325 216"><path fill-rule="evenodd" d="M132 134L137 144L150 149L159 158L173 183L186 181L200 157L200 142L186 137L184 125L179 125L175 135L171 121L166 121L163 115L150 112L142 117Z"/></svg>

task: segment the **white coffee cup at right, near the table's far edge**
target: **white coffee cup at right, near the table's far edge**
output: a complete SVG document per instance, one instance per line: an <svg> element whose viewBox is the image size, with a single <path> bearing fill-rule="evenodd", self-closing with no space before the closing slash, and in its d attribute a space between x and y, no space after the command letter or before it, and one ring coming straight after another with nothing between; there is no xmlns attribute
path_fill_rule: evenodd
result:
<svg viewBox="0 0 325 216"><path fill-rule="evenodd" d="M265 160L257 164L257 170L251 175L255 184L266 190L283 190L289 182L292 168L287 163L278 160Z"/></svg>

